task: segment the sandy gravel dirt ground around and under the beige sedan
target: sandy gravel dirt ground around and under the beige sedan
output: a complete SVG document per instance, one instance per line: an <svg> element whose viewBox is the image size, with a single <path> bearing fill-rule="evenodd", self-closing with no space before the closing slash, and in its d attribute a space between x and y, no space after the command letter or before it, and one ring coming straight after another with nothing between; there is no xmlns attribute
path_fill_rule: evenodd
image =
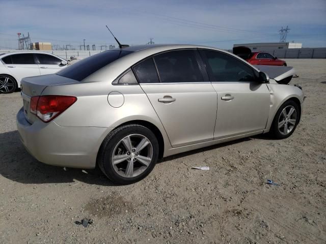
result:
<svg viewBox="0 0 326 244"><path fill-rule="evenodd" d="M307 96L291 137L169 157L129 186L37 162L16 131L20 94L0 95L0 242L326 243L326 59L286 61Z"/></svg>

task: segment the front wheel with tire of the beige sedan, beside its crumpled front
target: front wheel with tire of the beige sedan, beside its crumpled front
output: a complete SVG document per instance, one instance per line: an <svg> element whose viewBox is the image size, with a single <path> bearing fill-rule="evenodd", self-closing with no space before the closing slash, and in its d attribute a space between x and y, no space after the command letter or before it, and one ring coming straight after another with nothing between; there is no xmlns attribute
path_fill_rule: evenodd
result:
<svg viewBox="0 0 326 244"><path fill-rule="evenodd" d="M288 100L283 103L271 125L271 136L276 139L285 139L292 135L299 122L300 112L298 105L294 101Z"/></svg>

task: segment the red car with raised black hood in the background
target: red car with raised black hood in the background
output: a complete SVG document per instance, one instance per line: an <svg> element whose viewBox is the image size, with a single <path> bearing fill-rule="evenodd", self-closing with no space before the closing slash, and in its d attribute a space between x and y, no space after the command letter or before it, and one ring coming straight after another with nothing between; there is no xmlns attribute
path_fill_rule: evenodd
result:
<svg viewBox="0 0 326 244"><path fill-rule="evenodd" d="M248 47L234 47L233 53L252 65L286 66L284 60L278 59L268 52L252 52Z"/></svg>

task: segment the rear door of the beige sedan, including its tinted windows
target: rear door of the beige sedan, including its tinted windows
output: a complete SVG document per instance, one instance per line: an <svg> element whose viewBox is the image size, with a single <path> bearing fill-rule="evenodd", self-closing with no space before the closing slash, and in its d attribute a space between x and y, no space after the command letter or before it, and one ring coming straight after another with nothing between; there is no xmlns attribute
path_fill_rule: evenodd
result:
<svg viewBox="0 0 326 244"><path fill-rule="evenodd" d="M213 139L217 95L196 52L169 51L133 67L173 147Z"/></svg>

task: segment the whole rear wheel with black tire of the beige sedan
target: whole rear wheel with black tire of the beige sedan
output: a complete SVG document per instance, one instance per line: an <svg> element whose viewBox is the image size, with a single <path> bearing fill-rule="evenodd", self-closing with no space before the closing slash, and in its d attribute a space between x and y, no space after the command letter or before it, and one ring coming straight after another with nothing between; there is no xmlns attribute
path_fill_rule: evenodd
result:
<svg viewBox="0 0 326 244"><path fill-rule="evenodd" d="M158 141L148 128L141 125L122 126L104 139L98 165L113 182L132 184L153 170L158 148Z"/></svg>

